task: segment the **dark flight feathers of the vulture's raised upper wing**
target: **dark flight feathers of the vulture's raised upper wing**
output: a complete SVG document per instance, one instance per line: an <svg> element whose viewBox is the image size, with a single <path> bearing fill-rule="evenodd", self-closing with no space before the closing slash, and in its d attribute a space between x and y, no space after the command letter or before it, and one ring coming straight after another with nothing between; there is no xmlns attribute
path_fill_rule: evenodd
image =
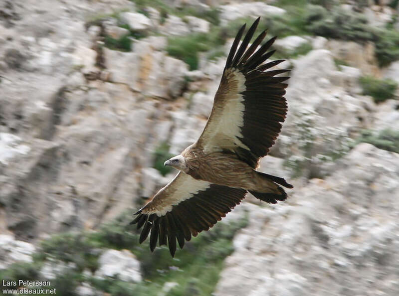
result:
<svg viewBox="0 0 399 296"><path fill-rule="evenodd" d="M274 145L274 141L281 131L282 125L280 123L284 122L287 114L287 103L283 97L287 84L282 82L289 78L274 77L289 70L279 69L265 72L265 70L285 61L275 60L263 64L275 52L274 50L269 51L269 49L276 37L272 37L256 50L266 35L265 31L263 31L246 50L247 41L252 38L258 22L259 19L254 21L246 33L241 46L235 53L236 44L239 42L237 38L241 38L242 35L240 30L230 50L230 55L234 53L235 55L229 56L225 66L225 69L239 69L245 76L246 89L242 93L245 106L244 124L241 127L242 137L239 140L249 150L237 147L234 152L237 157L253 168L256 168L259 158L269 152L270 147Z"/></svg>

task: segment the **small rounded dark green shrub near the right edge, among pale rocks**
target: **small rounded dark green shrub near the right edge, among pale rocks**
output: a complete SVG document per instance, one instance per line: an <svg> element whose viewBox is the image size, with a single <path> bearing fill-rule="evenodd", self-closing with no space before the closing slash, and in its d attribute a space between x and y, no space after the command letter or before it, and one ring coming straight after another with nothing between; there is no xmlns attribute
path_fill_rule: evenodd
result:
<svg viewBox="0 0 399 296"><path fill-rule="evenodd" d="M360 84L363 87L363 93L372 96L376 103L394 98L398 88L398 84L392 79L380 80L371 76L361 77Z"/></svg>

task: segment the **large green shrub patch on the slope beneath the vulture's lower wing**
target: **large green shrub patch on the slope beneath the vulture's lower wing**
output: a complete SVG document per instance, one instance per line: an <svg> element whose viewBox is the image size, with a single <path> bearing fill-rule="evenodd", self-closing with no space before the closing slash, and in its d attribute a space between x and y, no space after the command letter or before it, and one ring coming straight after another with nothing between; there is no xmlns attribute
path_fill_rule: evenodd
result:
<svg viewBox="0 0 399 296"><path fill-rule="evenodd" d="M83 282L112 296L157 295L166 282L177 282L179 285L168 295L208 296L218 281L223 260L233 251L231 241L234 234L248 222L246 215L229 223L221 221L210 231L186 242L185 248L176 253L176 258L172 258L165 246L157 247L151 253L148 240L140 245L135 225L129 225L132 219L131 211L127 211L114 221L101 226L96 232L55 235L43 241L42 250L34 256L40 262L13 264L0 271L0 278L40 280L42 263L50 256L77 265L76 269L56 275L51 281L52 287L57 289L57 295L75 296L76 287ZM85 254L99 254L100 248L130 250L140 261L144 281L134 284L83 275L86 269L91 269L92 272L96 269L92 269Z"/></svg>

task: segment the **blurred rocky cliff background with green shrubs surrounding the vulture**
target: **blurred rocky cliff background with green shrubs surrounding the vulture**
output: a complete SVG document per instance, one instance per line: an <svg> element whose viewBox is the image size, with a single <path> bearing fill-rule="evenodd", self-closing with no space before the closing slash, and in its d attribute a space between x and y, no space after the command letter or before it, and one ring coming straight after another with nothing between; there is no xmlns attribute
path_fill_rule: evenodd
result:
<svg viewBox="0 0 399 296"><path fill-rule="evenodd" d="M0 280L59 296L399 295L398 2L0 0ZM174 259L151 253L128 224L200 135L257 16L292 70L260 170L294 189L247 196Z"/></svg>

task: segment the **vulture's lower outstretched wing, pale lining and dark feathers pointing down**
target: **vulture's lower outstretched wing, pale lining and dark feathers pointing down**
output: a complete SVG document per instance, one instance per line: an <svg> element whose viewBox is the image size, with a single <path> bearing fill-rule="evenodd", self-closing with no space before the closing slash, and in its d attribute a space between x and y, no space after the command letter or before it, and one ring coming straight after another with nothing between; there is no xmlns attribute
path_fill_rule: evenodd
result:
<svg viewBox="0 0 399 296"><path fill-rule="evenodd" d="M154 251L168 240L171 255L175 255L176 239L183 248L191 236L208 230L245 197L246 190L230 188L196 180L179 172L176 177L136 214L131 224L143 227L140 243L151 230L150 249Z"/></svg>

